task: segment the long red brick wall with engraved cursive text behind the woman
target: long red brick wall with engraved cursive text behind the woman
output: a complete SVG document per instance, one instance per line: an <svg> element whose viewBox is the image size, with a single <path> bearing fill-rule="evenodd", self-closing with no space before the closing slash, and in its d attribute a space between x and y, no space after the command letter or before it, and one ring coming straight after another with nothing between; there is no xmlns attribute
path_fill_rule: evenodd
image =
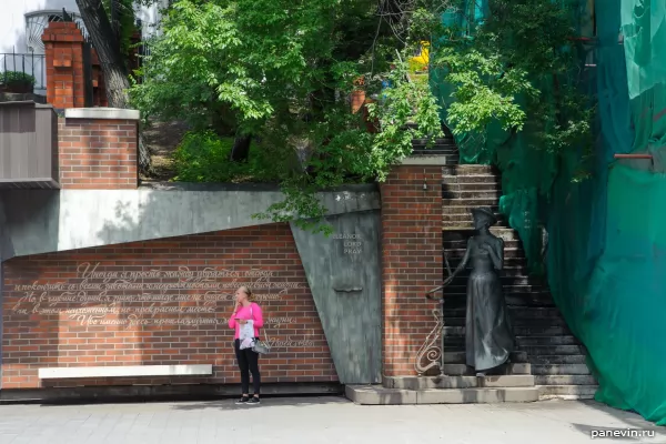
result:
<svg viewBox="0 0 666 444"><path fill-rule="evenodd" d="M3 389L44 386L40 367L85 365L212 363L214 375L49 385L238 383L226 322L231 295L248 282L274 343L260 359L262 380L337 380L286 224L18 258L3 266Z"/></svg>

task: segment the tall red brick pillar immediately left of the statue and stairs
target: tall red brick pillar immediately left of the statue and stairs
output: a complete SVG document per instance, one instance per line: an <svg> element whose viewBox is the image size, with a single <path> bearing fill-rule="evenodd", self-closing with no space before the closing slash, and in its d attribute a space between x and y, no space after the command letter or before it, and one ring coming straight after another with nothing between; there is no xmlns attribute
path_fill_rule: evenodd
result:
<svg viewBox="0 0 666 444"><path fill-rule="evenodd" d="M415 374L416 353L436 324L437 304L425 293L443 276L442 167L427 162L406 159L380 188L385 376Z"/></svg>

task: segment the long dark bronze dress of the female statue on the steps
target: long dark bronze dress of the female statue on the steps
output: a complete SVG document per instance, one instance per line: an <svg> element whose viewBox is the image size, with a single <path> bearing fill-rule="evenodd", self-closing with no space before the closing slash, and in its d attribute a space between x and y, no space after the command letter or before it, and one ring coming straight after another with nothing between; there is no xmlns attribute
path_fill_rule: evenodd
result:
<svg viewBox="0 0 666 444"><path fill-rule="evenodd" d="M466 357L467 365L483 372L504 364L515 341L502 282L490 253L476 242L470 253L473 269L467 282Z"/></svg>

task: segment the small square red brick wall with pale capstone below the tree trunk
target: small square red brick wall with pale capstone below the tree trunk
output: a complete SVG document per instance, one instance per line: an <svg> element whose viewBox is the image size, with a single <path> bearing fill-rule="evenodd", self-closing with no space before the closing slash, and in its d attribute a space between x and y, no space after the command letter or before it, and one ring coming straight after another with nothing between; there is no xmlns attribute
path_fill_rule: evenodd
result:
<svg viewBox="0 0 666 444"><path fill-rule="evenodd" d="M60 119L58 145L62 189L135 189L138 122Z"/></svg>

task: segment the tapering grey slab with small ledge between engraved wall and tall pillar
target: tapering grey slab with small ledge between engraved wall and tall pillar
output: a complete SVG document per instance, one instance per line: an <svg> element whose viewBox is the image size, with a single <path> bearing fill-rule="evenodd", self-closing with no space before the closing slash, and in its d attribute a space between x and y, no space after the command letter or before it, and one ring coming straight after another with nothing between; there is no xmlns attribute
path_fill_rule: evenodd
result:
<svg viewBox="0 0 666 444"><path fill-rule="evenodd" d="M292 224L299 254L343 384L380 383L382 270L379 211L332 215L334 234Z"/></svg>

